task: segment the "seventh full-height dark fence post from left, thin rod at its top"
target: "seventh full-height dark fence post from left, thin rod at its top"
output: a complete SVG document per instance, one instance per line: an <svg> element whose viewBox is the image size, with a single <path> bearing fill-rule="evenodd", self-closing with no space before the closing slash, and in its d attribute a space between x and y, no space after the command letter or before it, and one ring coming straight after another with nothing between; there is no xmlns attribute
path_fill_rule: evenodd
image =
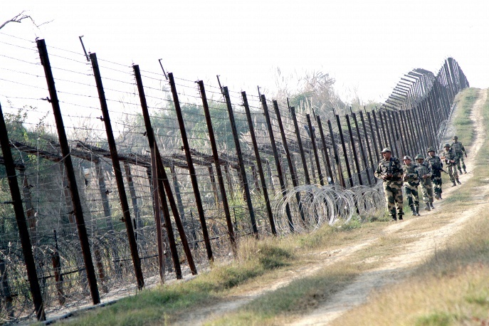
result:
<svg viewBox="0 0 489 326"><path fill-rule="evenodd" d="M224 99L226 100L226 106L228 107L229 122L231 122L231 131L233 132L234 145L236 147L236 155L238 156L239 172L241 174L241 180L243 182L244 191L246 194L246 205L248 206L248 213L250 214L251 230L255 236L258 236L258 228L256 226L255 211L253 210L253 203L251 203L251 192L248 185L248 178L246 177L246 170L243 162L243 154L241 152L241 144L239 144L239 135L236 128L236 122L234 120L233 106L231 105L231 98L229 98L228 88L223 88Z"/></svg>

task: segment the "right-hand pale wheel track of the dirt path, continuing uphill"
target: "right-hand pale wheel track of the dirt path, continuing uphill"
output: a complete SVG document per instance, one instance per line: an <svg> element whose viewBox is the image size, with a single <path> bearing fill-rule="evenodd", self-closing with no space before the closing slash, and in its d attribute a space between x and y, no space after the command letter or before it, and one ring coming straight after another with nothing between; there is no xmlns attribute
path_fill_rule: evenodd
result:
<svg viewBox="0 0 489 326"><path fill-rule="evenodd" d="M470 119L475 127L475 141L468 149L468 159L466 164L471 170L474 169L475 156L485 140L485 131L483 127L482 107L487 98L487 90L480 90L478 100L475 102ZM473 174L463 174L459 177L463 183L473 177ZM443 196L449 196L457 187L450 187L443 190ZM480 194L489 194L489 188L483 187L480 189ZM443 208L443 200L437 201L438 206ZM434 251L446 245L446 240L449 236L456 233L470 218L478 214L483 209L488 209L489 204L481 201L477 206L456 219L451 224L447 224L442 228L433 231L421 233L419 241L406 246L402 252L396 257L389 259L387 263L380 268L370 270L367 273L360 275L352 285L347 286L344 290L334 295L330 300L327 300L323 305L312 311L309 315L302 319L293 322L291 325L327 325L332 320L352 309L352 307L360 305L367 301L368 295L372 290L385 287L391 283L396 283L406 276L409 269L414 265L425 261L426 258L433 255ZM431 212L423 214L428 216ZM404 224L394 224L389 226L391 229L399 230L406 224L412 223L414 220L406 221ZM393 231L393 230L391 230Z"/></svg>

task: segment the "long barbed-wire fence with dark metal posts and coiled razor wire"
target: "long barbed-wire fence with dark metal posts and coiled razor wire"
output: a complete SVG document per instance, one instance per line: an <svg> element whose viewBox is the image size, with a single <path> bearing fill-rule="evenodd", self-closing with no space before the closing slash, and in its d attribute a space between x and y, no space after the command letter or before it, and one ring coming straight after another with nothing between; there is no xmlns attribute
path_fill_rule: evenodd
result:
<svg viewBox="0 0 489 326"><path fill-rule="evenodd" d="M242 237L374 214L379 152L440 147L468 87L448 58L436 75L404 75L378 108L340 116L95 53L48 54L44 40L0 43L2 323L199 273Z"/></svg>

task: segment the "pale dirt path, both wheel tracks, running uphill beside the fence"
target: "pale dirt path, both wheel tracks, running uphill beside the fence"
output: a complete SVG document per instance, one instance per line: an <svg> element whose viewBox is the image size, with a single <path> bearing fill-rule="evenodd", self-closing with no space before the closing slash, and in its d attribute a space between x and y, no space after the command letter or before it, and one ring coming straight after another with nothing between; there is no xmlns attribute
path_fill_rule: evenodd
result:
<svg viewBox="0 0 489 326"><path fill-rule="evenodd" d="M466 164L469 171L473 170L475 164L474 157L485 140L482 107L486 98L487 91L480 90L479 98L475 102L472 114L470 115L470 119L473 120L475 126L475 141L473 142L473 145L467 149L469 156L468 159L466 159ZM463 174L459 179L463 183L470 177L473 177L473 174ZM449 196L452 191L457 189L457 187L447 188L447 186L444 186L443 188L443 196L445 197ZM482 191L489 194L489 188L481 189L481 194ZM443 200L436 201L436 205L440 208L443 207ZM456 233L456 231L458 231L471 216L477 214L478 210L483 208L487 209L486 205L481 203L473 209L466 211L466 214L462 216L461 219L457 219L456 221L453 221L453 223L434 231L419 234L419 241L415 241L409 246L406 246L403 251L399 252L398 256L389 259L389 261L384 263L381 267L369 270L367 273L360 275L354 283L347 286L347 288L340 291L340 293L334 295L330 300L327 300L327 302L320 305L320 307L317 307L317 309L313 310L309 315L303 316L300 320L293 322L292 325L327 325L330 321L347 312L347 310L352 307L364 303L372 290L382 288L391 283L396 283L401 280L401 278L404 278L409 268L426 260L436 248L444 246L444 243L449 236ZM430 213L427 212L423 215L427 216L428 214ZM386 233L399 231L413 221L414 220L407 220L404 221L404 223L392 224L384 229L384 235ZM216 303L189 312L188 315L175 321L174 325L202 325L208 320L219 317L219 315L224 315L227 312L237 310L239 307L246 305L246 303L251 302L251 300L258 298L265 293L286 286L293 280L313 275L318 270L321 270L328 265L342 261L362 248L372 245L372 243L377 240L378 237L374 236L367 241L362 241L362 243L352 243L337 251L325 251L321 253L321 255L324 255L324 258L313 266L307 265L304 268L293 270L291 271L290 276L281 278L275 283L268 284L266 288L258 288L257 290L250 291L243 295L227 298L224 303Z"/></svg>

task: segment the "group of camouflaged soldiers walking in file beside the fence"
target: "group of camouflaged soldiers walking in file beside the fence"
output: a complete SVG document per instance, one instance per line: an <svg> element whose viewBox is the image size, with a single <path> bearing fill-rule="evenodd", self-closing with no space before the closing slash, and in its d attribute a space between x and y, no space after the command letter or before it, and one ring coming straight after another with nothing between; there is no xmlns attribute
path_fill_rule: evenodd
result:
<svg viewBox="0 0 489 326"><path fill-rule="evenodd" d="M382 150L383 159L380 160L375 177L382 179L384 194L387 201L387 210L393 221L401 221L404 215L402 189L406 192L409 207L413 216L419 216L418 186L421 186L425 210L434 209L433 197L442 199L441 172L450 175L452 186L461 184L458 174L467 173L463 156L467 157L466 149L458 137L453 137L451 144L446 143L444 152L440 157L436 156L434 147L428 147L428 156L417 154L413 162L411 157L403 157L404 164L393 157L389 147ZM443 169L443 163L448 171ZM463 169L463 172L462 172ZM433 196L434 192L434 196Z"/></svg>

